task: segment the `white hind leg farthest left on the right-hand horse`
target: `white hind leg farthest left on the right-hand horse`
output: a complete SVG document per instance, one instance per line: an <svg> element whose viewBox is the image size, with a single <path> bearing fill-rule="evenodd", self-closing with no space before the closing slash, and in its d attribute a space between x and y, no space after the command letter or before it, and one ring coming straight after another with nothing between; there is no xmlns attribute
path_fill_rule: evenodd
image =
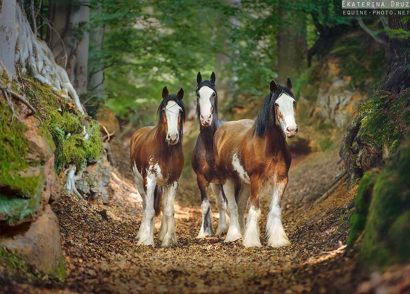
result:
<svg viewBox="0 0 410 294"><path fill-rule="evenodd" d="M233 242L241 239L242 234L239 228L238 207L235 201L235 187L232 180L227 180L226 183L223 184L223 192L228 200L228 209L230 214L229 229L224 242Z"/></svg>

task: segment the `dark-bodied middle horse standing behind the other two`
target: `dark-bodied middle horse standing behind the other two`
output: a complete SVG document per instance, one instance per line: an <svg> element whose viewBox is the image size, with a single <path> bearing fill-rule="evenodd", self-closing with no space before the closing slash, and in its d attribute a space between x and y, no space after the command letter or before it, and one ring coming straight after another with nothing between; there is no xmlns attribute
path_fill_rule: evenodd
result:
<svg viewBox="0 0 410 294"><path fill-rule="evenodd" d="M200 72L196 77L196 115L199 122L199 134L192 153L191 165L196 173L196 179L201 193L202 223L197 238L213 235L212 212L208 201L209 186L211 186L211 189L216 195L216 202L219 209L219 222L216 235L222 234L228 229L226 198L217 176L214 160L214 134L222 125L218 117L218 95L215 80L214 72L212 72L209 80L202 81Z"/></svg>

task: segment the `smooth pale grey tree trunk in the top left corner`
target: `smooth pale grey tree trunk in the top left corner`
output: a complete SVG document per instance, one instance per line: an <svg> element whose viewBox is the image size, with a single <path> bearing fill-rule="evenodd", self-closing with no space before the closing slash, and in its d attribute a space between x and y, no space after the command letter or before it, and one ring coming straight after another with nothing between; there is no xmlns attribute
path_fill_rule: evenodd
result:
<svg viewBox="0 0 410 294"><path fill-rule="evenodd" d="M15 26L16 2L0 3L0 59L12 77L16 77L14 66L17 32Z"/></svg>

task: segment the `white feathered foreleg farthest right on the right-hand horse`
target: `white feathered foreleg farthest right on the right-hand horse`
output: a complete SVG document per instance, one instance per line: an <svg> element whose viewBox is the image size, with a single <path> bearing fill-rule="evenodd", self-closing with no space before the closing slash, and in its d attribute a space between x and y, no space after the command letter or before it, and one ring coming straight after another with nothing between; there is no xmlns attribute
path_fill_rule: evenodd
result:
<svg viewBox="0 0 410 294"><path fill-rule="evenodd" d="M268 235L268 245L280 247L290 245L291 242L286 236L282 225L282 196L288 185L288 177L276 183L273 189L271 207L269 208L266 233Z"/></svg>

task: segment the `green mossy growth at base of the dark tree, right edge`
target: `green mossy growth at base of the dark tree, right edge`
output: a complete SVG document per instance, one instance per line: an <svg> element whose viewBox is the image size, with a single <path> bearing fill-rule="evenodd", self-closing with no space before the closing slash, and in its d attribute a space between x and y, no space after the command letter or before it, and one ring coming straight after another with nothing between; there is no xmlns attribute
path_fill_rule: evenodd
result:
<svg viewBox="0 0 410 294"><path fill-rule="evenodd" d="M407 101L410 89L398 95L378 91L359 104L359 112L364 115L360 133L365 140L379 146L385 144L393 153L404 139L410 123Z"/></svg>

